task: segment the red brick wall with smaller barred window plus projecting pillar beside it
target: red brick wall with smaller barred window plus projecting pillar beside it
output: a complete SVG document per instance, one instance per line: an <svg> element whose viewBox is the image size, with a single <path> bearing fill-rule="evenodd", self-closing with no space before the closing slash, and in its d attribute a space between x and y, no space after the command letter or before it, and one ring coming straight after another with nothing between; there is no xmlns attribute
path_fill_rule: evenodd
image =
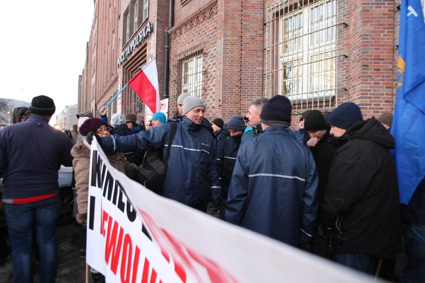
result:
<svg viewBox="0 0 425 283"><path fill-rule="evenodd" d="M249 102L262 94L263 3L191 0L183 5L176 3L175 14L175 24L170 30L171 62L174 55L206 41L203 50L206 118L221 117L227 122L233 115L244 115ZM197 24L191 24L193 21ZM170 115L177 111L180 94L179 90L170 92Z"/></svg>

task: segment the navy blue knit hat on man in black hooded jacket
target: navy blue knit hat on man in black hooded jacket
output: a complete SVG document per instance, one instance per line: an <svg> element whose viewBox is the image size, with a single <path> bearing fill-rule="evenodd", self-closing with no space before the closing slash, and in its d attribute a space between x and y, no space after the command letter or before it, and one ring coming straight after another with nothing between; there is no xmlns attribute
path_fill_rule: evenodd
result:
<svg viewBox="0 0 425 283"><path fill-rule="evenodd" d="M329 117L329 124L343 130L347 130L354 123L363 121L360 107L353 102L346 102L335 108Z"/></svg>

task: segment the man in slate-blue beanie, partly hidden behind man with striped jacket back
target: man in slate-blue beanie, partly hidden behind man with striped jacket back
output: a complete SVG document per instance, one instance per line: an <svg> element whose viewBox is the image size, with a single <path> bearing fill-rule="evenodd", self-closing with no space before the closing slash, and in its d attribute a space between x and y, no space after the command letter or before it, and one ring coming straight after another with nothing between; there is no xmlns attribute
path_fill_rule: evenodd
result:
<svg viewBox="0 0 425 283"><path fill-rule="evenodd" d="M222 168L221 170L218 170L220 172L218 177L221 183L221 204L218 209L218 213L222 220L225 220L224 215L230 179L233 173L234 163L236 162L240 140L243 132L245 131L245 122L243 121L242 116L231 117L227 122L226 128L230 137L226 136L226 139L223 142L222 163L219 165ZM214 212L215 211L213 210L211 213L214 214Z"/></svg>

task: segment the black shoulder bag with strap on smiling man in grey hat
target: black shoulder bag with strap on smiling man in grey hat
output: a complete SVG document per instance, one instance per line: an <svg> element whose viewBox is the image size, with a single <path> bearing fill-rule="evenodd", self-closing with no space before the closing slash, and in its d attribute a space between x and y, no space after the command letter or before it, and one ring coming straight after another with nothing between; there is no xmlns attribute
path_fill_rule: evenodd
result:
<svg viewBox="0 0 425 283"><path fill-rule="evenodd" d="M162 189L164 187L165 174L168 168L168 158L170 157L171 144L173 143L176 131L177 124L172 122L165 158L163 158L162 148L151 149L145 153L142 164L137 170L139 183L159 195L162 194Z"/></svg>

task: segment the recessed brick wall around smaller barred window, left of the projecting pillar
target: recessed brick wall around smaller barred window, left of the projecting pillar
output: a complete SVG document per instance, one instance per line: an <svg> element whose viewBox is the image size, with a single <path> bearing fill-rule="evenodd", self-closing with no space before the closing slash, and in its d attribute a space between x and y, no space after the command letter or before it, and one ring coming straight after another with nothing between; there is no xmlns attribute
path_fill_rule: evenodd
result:
<svg viewBox="0 0 425 283"><path fill-rule="evenodd" d="M175 86L177 82L173 82L173 79L179 79L178 76L176 77L176 68L179 66L173 66L176 63L175 56L197 44L206 42L203 48L202 98L207 105L206 118L211 120L220 116L221 44L217 25L217 3L214 0L208 3L195 0L189 2L183 6L178 1L175 2L177 16L174 26L170 29L169 116L177 112L177 98L182 93ZM191 52L189 51L188 54L191 55Z"/></svg>

